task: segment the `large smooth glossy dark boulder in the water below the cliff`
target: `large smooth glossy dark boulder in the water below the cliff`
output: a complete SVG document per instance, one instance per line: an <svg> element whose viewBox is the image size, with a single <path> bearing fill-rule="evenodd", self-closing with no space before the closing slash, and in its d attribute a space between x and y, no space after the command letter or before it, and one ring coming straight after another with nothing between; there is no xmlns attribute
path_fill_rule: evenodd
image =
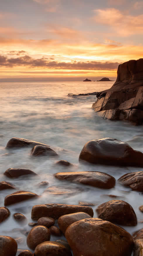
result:
<svg viewBox="0 0 143 256"><path fill-rule="evenodd" d="M87 142L79 156L93 164L143 167L143 153L132 149L126 142L113 138L94 139Z"/></svg>

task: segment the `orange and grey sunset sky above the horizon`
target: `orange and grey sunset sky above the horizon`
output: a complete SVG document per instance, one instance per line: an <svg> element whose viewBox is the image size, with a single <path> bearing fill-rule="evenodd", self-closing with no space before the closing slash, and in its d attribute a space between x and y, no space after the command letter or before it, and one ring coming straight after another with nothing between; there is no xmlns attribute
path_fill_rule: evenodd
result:
<svg viewBox="0 0 143 256"><path fill-rule="evenodd" d="M143 1L0 0L0 81L116 79L143 58Z"/></svg>

